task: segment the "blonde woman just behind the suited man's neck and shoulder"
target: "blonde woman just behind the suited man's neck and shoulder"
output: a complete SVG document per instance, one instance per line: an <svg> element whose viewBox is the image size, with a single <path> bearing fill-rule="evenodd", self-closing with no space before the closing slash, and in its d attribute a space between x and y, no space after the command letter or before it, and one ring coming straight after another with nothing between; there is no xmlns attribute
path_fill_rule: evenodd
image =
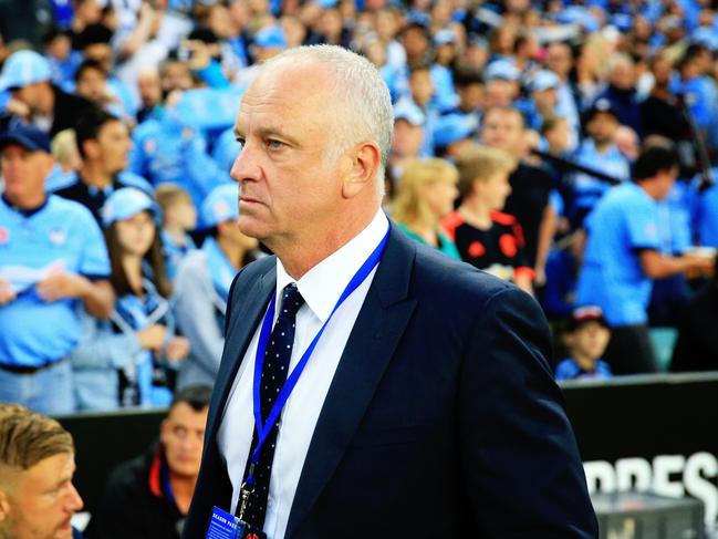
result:
<svg viewBox="0 0 718 539"><path fill-rule="evenodd" d="M412 238L460 259L439 220L454 209L459 173L445 159L417 159L402 175L392 217Z"/></svg>

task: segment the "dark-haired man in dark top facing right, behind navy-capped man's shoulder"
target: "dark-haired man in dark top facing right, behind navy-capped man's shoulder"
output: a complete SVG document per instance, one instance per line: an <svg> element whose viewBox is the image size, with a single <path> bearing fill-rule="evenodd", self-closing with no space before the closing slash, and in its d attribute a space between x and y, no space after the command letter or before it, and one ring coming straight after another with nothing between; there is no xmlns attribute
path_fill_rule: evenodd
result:
<svg viewBox="0 0 718 539"><path fill-rule="evenodd" d="M56 190L55 195L82 204L100 222L100 210L115 190L137 187L152 193L146 180L124 172L132 139L119 118L98 108L87 111L77 121L75 138L82 165L75 182Z"/></svg>

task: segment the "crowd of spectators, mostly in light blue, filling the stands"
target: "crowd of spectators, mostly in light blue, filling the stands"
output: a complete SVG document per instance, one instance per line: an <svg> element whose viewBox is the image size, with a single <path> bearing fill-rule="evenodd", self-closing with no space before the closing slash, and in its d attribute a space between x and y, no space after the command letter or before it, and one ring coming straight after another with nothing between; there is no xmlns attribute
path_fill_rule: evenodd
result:
<svg viewBox="0 0 718 539"><path fill-rule="evenodd" d="M319 43L389 89L387 213L534 294L560 377L655 372L649 326L696 318L675 367L718 364L710 2L33 0L0 4L0 401L212 383L232 278L266 255L236 226L237 107L263 61ZM599 361L585 325L645 361Z"/></svg>

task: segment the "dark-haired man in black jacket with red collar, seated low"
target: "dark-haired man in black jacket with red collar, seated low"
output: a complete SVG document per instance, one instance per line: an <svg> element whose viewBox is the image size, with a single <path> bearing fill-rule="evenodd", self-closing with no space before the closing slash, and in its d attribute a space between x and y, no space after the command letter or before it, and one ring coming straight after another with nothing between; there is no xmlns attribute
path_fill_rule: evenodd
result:
<svg viewBox="0 0 718 539"><path fill-rule="evenodd" d="M178 539L199 474L211 387L187 386L175 395L159 443L121 464L85 536L89 539Z"/></svg>

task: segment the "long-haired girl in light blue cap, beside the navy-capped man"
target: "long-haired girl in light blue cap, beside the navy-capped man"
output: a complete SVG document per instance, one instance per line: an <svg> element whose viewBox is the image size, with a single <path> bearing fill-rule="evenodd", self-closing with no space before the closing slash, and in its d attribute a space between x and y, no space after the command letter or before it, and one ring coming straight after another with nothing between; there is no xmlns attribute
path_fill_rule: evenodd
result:
<svg viewBox="0 0 718 539"><path fill-rule="evenodd" d="M176 336L157 235L157 209L139 189L118 189L103 207L105 241L117 296L111 319L85 315L71 354L79 410L166 406L175 364L189 352Z"/></svg>

